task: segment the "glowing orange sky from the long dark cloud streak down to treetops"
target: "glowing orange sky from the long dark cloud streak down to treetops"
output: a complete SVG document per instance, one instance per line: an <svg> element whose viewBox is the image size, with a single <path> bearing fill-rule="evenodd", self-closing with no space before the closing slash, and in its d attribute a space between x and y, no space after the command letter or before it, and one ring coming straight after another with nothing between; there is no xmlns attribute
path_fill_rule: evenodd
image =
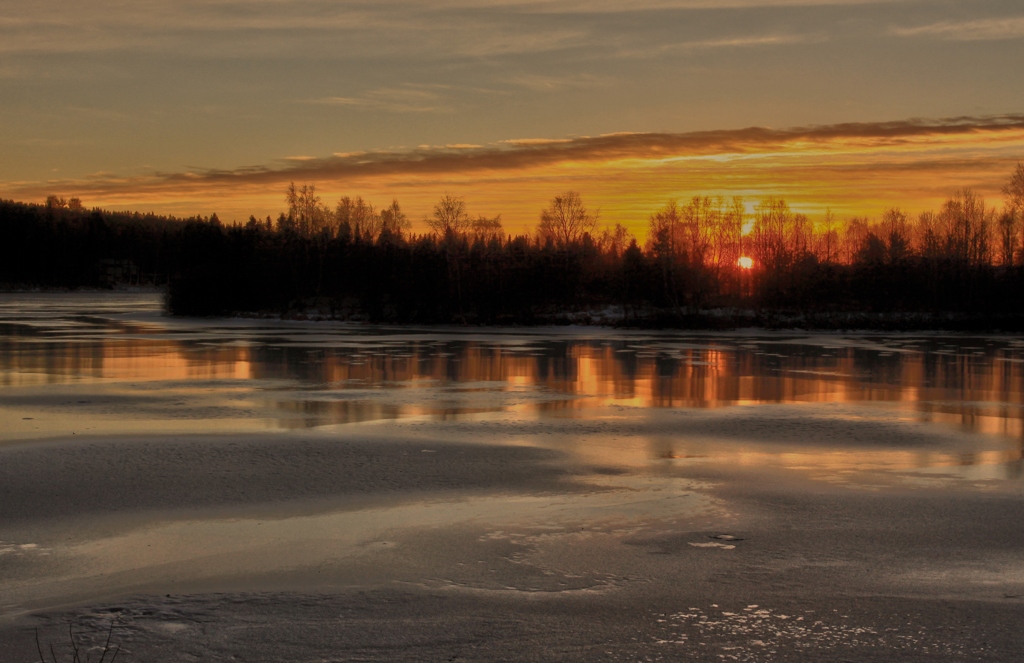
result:
<svg viewBox="0 0 1024 663"><path fill-rule="evenodd" d="M916 213L971 187L1001 206L999 188L1024 158L1024 116L958 118L691 133L622 133L572 139L508 140L487 146L421 147L395 152L284 160L270 167L139 177L96 176L25 183L20 199L77 195L87 206L225 221L276 215L289 181L314 182L324 201L362 196L383 206L397 198L422 227L441 195L466 198L472 214L502 214L511 233L532 227L548 199L581 192L605 223L644 235L650 212L671 198L784 197L813 217L878 215L889 206Z"/></svg>

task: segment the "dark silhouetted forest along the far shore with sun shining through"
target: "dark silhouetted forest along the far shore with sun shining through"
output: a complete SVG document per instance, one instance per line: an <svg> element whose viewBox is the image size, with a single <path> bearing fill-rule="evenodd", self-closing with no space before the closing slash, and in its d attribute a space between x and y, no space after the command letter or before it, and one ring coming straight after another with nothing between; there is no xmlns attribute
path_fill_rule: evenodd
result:
<svg viewBox="0 0 1024 663"><path fill-rule="evenodd" d="M169 313L375 323L1024 328L1024 164L1001 208L963 189L910 216L812 222L784 200L669 201L640 243L577 192L532 233L445 195L422 233L397 201L333 207L291 184L276 219L0 201L0 287L164 286Z"/></svg>

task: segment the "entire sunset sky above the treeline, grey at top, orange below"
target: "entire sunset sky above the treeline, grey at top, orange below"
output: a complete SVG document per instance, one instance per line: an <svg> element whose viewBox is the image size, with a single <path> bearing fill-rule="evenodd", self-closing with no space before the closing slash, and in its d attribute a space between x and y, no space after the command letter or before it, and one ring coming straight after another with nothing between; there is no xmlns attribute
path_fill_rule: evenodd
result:
<svg viewBox="0 0 1024 663"><path fill-rule="evenodd" d="M1001 205L1019 0L0 0L0 197L224 220L440 196L534 225L579 191L814 218Z"/></svg>

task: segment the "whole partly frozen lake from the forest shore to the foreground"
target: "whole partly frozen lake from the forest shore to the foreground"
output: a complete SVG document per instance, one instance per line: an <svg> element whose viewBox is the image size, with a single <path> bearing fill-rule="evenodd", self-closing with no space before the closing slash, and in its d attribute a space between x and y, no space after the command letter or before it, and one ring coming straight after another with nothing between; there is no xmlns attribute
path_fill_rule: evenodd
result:
<svg viewBox="0 0 1024 663"><path fill-rule="evenodd" d="M0 659L1016 660L1022 389L1014 336L3 294Z"/></svg>

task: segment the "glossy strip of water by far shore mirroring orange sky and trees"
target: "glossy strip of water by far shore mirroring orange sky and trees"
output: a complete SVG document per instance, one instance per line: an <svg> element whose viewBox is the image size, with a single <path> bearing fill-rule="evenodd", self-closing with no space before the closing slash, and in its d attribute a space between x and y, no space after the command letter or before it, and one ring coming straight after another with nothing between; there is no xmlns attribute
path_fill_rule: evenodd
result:
<svg viewBox="0 0 1024 663"><path fill-rule="evenodd" d="M608 464L1018 481L1022 378L1012 336L367 327L0 296L0 443L489 422Z"/></svg>

